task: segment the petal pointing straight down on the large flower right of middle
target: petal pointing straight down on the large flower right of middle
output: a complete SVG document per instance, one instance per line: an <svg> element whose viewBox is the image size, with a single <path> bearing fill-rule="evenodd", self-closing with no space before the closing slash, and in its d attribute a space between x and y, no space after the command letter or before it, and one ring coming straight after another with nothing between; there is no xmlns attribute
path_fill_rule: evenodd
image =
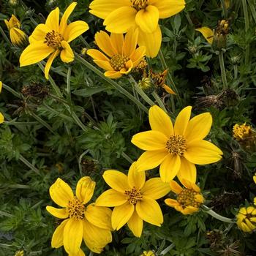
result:
<svg viewBox="0 0 256 256"><path fill-rule="evenodd" d="M171 181L181 167L181 157L169 154L160 165L160 177L163 182Z"/></svg>

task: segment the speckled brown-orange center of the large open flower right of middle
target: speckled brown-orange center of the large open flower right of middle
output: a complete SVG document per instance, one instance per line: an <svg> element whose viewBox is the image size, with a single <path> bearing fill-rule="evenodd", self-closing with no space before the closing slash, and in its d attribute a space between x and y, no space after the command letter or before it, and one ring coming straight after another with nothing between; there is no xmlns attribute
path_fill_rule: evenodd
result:
<svg viewBox="0 0 256 256"><path fill-rule="evenodd" d="M186 140L183 135L171 135L167 140L166 148L171 154L178 154L182 156L187 149Z"/></svg>

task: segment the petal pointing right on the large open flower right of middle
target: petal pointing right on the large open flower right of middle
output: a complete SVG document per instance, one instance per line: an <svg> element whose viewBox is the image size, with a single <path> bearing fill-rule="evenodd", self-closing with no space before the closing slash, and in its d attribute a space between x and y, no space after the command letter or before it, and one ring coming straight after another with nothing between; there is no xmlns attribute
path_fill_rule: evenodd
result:
<svg viewBox="0 0 256 256"><path fill-rule="evenodd" d="M222 151L206 140L193 140L187 144L184 157L197 165L206 165L222 159Z"/></svg>

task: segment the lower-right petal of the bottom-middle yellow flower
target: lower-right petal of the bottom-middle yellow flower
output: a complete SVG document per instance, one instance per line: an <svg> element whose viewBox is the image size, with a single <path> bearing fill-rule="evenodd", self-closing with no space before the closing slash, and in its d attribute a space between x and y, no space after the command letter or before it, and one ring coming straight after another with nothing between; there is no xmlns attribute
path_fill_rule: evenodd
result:
<svg viewBox="0 0 256 256"><path fill-rule="evenodd" d="M136 204L136 211L141 219L152 225L161 226L164 221L161 208L154 199L143 197L143 200Z"/></svg>

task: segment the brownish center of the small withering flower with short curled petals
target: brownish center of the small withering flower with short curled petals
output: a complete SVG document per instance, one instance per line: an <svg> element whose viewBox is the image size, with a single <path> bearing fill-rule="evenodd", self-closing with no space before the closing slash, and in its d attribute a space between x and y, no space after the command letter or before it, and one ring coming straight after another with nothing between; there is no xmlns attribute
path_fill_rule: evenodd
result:
<svg viewBox="0 0 256 256"><path fill-rule="evenodd" d="M184 208L186 206L193 206L198 208L201 203L199 202L200 200L197 200L197 195L200 195L200 193L195 192L192 189L183 189L183 191L178 194L177 201Z"/></svg>

